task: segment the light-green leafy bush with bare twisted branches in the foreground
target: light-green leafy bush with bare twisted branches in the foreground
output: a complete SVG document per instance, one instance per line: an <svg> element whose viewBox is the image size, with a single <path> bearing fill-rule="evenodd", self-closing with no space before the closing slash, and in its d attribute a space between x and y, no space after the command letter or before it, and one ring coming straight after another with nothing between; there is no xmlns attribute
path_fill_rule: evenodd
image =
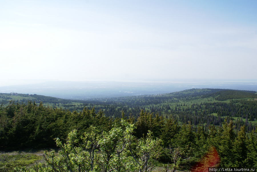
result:
<svg viewBox="0 0 257 172"><path fill-rule="evenodd" d="M45 153L45 167L18 171L151 171L159 155L159 140L153 139L151 132L145 139L137 139L132 135L134 128L121 120L109 132L99 132L91 126L81 138L73 130L65 143L56 139L58 154L54 150Z"/></svg>

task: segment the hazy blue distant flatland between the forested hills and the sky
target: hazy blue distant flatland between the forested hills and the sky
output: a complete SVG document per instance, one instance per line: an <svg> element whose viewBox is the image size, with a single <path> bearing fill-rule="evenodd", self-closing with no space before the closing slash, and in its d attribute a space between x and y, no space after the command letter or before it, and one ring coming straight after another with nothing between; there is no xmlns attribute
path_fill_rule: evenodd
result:
<svg viewBox="0 0 257 172"><path fill-rule="evenodd" d="M192 88L257 91L257 82L115 82L45 81L37 84L0 87L1 93L38 94L64 99L108 98L171 93Z"/></svg>

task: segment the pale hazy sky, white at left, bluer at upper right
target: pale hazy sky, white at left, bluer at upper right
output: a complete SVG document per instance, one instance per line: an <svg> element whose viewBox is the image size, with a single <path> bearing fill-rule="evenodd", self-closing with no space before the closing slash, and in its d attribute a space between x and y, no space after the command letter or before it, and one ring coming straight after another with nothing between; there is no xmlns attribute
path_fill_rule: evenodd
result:
<svg viewBox="0 0 257 172"><path fill-rule="evenodd" d="M256 0L1 0L0 80L257 81L256 9Z"/></svg>

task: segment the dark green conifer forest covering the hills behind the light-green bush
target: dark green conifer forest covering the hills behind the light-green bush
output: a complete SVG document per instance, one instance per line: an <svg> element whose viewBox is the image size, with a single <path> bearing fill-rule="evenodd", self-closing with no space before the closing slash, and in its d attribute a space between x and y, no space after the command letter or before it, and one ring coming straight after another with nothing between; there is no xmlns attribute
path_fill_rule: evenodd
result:
<svg viewBox="0 0 257 172"><path fill-rule="evenodd" d="M8 96L1 95L3 102L11 98ZM77 152L78 155L89 156L90 152L83 152L88 149L82 146L85 141L92 141L89 137L84 137L86 133L108 140L111 139L111 132L117 128L130 126L130 132L124 130L123 133L116 133L119 138L115 138L119 141L121 138L134 137L132 140L123 140L122 150L127 153L119 154L122 155L120 157L115 154L115 150L110 150L109 154L106 152L106 146L111 143L105 144L101 138L95 138L95 142L99 144L95 150L99 153L103 151L103 156L108 154L110 164L114 162L111 157L116 155L119 158L134 158L136 164L141 156L135 155L136 144L143 149L147 138L153 139L152 144L156 143L154 150L158 151L158 156L152 157L151 161L173 164L173 169L189 169L195 163L204 164L201 158L215 151L218 154L217 165L222 167L256 167L257 164L257 95L253 91L190 89L163 95L94 99L77 101L75 103L78 104L73 104L71 110L57 106L67 103L72 105L74 102L69 100L44 96L38 98L41 103L36 103L39 101L36 99L35 102L21 99L1 105L2 150L54 148L57 143L59 147L63 146L64 151L67 149L63 145L65 143L79 149L81 154ZM47 105L47 99L53 99L56 105ZM128 132L126 137L125 131ZM149 132L151 136L146 137ZM55 138L59 138L60 142L55 142ZM73 152L66 151L63 152L64 157ZM59 153L61 155L62 152ZM98 158L99 161L91 162L92 168L99 166L101 157ZM134 160L131 159L131 162ZM62 162L65 163L64 160ZM85 163L86 161L84 165ZM48 165L50 168L50 160ZM51 168L53 165L54 163ZM136 169L136 166L133 168Z"/></svg>

